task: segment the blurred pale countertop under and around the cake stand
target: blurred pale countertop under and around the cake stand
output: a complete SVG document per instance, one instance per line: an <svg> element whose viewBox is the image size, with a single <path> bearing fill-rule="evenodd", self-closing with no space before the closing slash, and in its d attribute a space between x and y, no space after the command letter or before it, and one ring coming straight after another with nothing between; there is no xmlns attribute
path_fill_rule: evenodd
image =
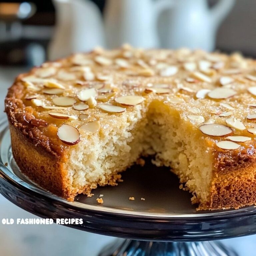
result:
<svg viewBox="0 0 256 256"><path fill-rule="evenodd" d="M3 113L7 88L21 68L0 67L0 120ZM60 225L3 225L3 218L36 218L35 215L15 206L0 195L0 255L3 256L96 256L99 250L114 238ZM256 255L256 235L226 239L224 244L241 256Z"/></svg>

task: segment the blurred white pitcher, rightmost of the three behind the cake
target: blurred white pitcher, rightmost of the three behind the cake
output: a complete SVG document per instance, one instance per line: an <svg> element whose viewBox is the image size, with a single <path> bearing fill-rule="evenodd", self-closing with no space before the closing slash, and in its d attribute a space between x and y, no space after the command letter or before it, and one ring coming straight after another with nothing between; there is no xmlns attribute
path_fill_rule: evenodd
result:
<svg viewBox="0 0 256 256"><path fill-rule="evenodd" d="M178 0L159 21L162 46L212 51L217 29L235 0L219 0L208 8L206 0Z"/></svg>

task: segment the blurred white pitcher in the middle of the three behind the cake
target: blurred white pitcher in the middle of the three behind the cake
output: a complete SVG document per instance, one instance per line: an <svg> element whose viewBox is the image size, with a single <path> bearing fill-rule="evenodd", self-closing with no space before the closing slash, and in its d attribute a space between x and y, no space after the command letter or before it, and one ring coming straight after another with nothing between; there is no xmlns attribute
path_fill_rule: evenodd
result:
<svg viewBox="0 0 256 256"><path fill-rule="evenodd" d="M159 46L157 19L170 0L108 0L104 11L108 48L129 43L134 47Z"/></svg>

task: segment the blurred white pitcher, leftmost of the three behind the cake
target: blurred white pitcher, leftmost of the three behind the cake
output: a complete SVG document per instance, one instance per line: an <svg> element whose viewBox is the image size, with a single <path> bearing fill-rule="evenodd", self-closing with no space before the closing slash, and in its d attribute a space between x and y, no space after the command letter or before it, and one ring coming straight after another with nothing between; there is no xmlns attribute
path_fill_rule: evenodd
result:
<svg viewBox="0 0 256 256"><path fill-rule="evenodd" d="M103 21L98 7L89 0L53 0L57 24L50 43L49 59L105 46Z"/></svg>

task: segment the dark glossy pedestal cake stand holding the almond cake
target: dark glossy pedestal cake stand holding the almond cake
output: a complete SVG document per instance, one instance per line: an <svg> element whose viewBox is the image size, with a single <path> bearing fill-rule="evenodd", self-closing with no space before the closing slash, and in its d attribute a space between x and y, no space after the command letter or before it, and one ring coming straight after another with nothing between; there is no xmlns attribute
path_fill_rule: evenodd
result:
<svg viewBox="0 0 256 256"><path fill-rule="evenodd" d="M0 124L0 132L0 193L40 217L81 218L83 224L66 226L118 237L99 256L235 256L213 240L256 233L255 207L196 211L191 194L179 189L178 178L168 168L150 163L124 172L118 186L100 187L93 197L79 195L68 202L19 171L6 122ZM100 195L103 204L96 201Z"/></svg>

